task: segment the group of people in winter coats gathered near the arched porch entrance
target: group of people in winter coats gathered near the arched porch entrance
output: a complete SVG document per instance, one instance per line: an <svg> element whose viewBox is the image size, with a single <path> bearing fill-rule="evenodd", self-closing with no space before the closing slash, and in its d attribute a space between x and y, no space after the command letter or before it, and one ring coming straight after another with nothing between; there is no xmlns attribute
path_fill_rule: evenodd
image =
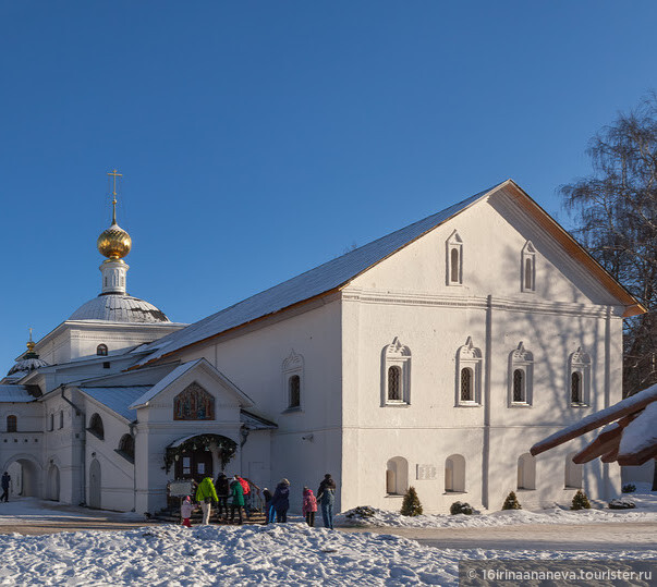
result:
<svg viewBox="0 0 657 587"><path fill-rule="evenodd" d="M251 485L250 482L235 475L229 479L226 474L219 475L217 480L212 482L210 477L205 477L196 489L195 501L200 505L203 512L203 524L210 523L210 514L212 503L217 504L217 516L219 519L223 517L230 524L234 523L235 514L238 514L238 524L243 523L242 510L244 515L248 517L251 502ZM285 523L288 521L288 510L290 509L290 481L281 479L277 485L273 493L269 489L263 489L263 498L265 500L266 524ZM229 518L229 499L230 499L230 518ZM333 529L333 503L336 502L336 481L331 475L327 473L323 481L319 484L317 494L308 487L303 488L302 513L305 516L308 526L315 526L315 514L317 506L321 510L324 527ZM181 516L183 525L191 527L192 512L195 505L192 502L191 496L186 496L181 505Z"/></svg>

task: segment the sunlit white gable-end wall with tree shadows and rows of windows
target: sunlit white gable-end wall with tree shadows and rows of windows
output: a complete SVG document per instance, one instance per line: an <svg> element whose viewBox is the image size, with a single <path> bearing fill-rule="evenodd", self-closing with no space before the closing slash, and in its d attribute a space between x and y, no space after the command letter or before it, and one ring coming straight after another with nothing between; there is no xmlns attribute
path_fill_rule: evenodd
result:
<svg viewBox="0 0 657 587"><path fill-rule="evenodd" d="M407 460L426 511L445 512L457 499L499 509L534 442L620 400L622 308L601 305L617 302L511 208L503 196L471 208L344 290L342 509L399 501L385 486L394 456ZM461 286L446 284L454 229L464 247ZM534 293L521 291L527 240L537 250ZM381 407L381 351L394 337L412 354L411 405ZM483 355L483 405L457 407L457 352L467 337ZM508 405L509 354L521 341L534 354L534 401L522 408ZM569 401L568 358L580 346L592 358L585 408ZM465 457L466 496L445 494L445 460L453 453ZM538 457L537 489L522 491L527 503L572 499L564 458L557 450ZM418 464L434 465L436 479L414 478ZM591 497L617 489L617 469L586 466Z"/></svg>

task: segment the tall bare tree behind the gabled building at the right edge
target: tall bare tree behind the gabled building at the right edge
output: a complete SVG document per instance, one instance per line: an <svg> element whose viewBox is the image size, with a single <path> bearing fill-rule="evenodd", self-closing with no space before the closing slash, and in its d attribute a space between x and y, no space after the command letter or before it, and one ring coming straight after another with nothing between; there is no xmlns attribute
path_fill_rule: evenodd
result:
<svg viewBox="0 0 657 587"><path fill-rule="evenodd" d="M623 396L657 382L657 95L587 149L593 173L560 187L588 252L648 313L625 320Z"/></svg>

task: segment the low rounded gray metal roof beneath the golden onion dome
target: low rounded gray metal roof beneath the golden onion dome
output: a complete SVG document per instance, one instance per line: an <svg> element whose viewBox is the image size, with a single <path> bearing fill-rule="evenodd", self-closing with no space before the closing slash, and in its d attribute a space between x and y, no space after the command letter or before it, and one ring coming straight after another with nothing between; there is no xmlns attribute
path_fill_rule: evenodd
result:
<svg viewBox="0 0 657 587"><path fill-rule="evenodd" d="M101 294L80 306L69 320L107 320L109 322L169 322L153 304L123 294Z"/></svg>

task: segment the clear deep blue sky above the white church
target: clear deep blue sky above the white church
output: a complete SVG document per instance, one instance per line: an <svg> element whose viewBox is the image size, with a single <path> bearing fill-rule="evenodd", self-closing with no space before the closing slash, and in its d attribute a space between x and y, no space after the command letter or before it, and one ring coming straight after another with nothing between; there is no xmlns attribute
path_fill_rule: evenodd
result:
<svg viewBox="0 0 657 587"><path fill-rule="evenodd" d="M100 291L195 321L507 178L656 84L655 2L0 0L0 370Z"/></svg>

